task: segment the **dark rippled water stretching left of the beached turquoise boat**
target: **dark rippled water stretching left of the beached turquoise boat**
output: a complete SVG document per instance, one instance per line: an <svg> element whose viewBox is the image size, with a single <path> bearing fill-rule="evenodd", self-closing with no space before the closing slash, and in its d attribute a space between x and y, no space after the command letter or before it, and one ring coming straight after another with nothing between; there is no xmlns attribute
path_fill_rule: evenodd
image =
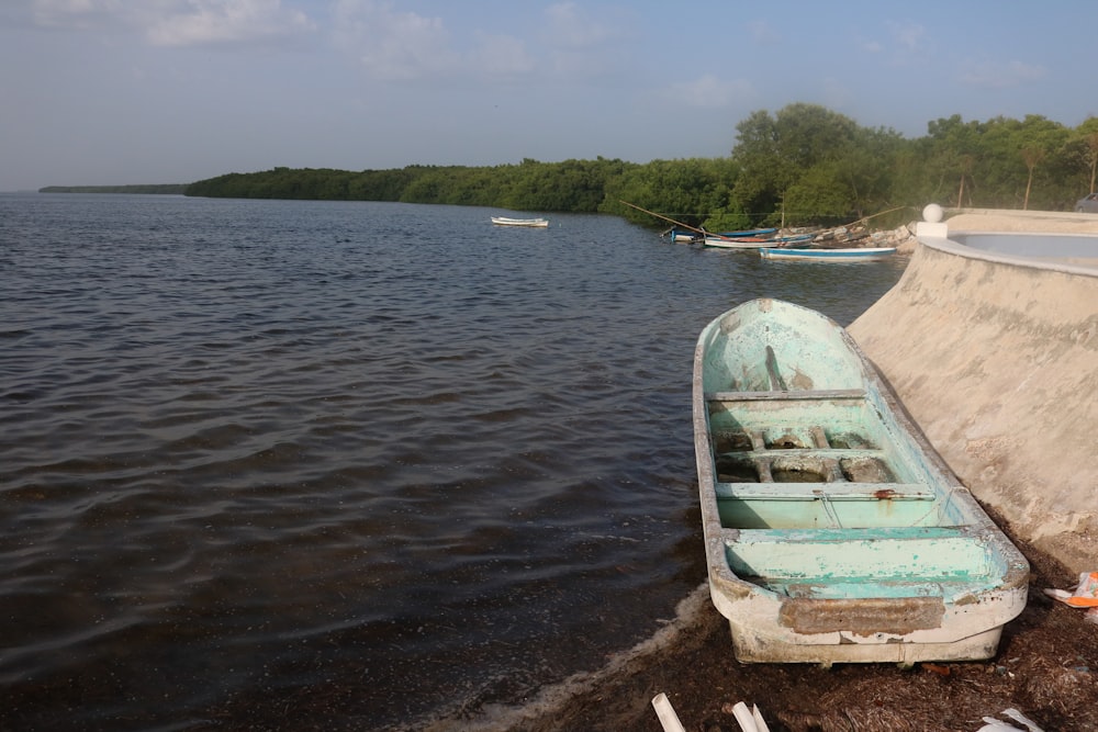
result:
<svg viewBox="0 0 1098 732"><path fill-rule="evenodd" d="M906 263L500 213L0 195L0 728L380 730L600 668L705 578L702 327L848 324Z"/></svg>

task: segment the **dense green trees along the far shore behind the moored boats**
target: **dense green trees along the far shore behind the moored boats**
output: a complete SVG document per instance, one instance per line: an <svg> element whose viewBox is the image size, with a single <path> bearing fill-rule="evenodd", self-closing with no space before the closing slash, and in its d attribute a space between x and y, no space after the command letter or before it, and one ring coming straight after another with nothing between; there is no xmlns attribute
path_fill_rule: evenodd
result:
<svg viewBox="0 0 1098 732"><path fill-rule="evenodd" d="M198 181L186 194L597 212L653 223L638 206L720 230L830 225L883 212L901 222L931 202L1065 211L1095 191L1098 117L1072 128L1040 115L965 122L955 114L927 127L926 136L909 139L820 105L794 103L773 114L750 114L722 158L647 164L527 158L492 167L357 172L274 168Z"/></svg>

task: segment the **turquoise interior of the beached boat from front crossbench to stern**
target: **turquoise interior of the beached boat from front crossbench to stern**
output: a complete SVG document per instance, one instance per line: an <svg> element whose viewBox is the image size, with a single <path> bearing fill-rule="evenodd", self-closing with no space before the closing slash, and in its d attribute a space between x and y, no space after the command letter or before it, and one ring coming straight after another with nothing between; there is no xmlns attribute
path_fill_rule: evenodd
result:
<svg viewBox="0 0 1098 732"><path fill-rule="evenodd" d="M850 599L909 596L912 581L971 590L1006 571L985 527L966 525L964 488L935 482L864 390L705 398L717 513L741 578Z"/></svg>

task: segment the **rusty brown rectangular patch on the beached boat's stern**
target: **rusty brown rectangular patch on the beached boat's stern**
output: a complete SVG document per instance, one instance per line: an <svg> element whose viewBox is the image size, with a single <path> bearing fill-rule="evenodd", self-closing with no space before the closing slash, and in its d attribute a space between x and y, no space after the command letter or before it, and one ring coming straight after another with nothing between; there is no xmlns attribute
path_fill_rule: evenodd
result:
<svg viewBox="0 0 1098 732"><path fill-rule="evenodd" d="M793 598L782 604L778 621L796 633L845 631L855 635L893 633L940 628L945 604L940 597L896 599L825 600Z"/></svg>

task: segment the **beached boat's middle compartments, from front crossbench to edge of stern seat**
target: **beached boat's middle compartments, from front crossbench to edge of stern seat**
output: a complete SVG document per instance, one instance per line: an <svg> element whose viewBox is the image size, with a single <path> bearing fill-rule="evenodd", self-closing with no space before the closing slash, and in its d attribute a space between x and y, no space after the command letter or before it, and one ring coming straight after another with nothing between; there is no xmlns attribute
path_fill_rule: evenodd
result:
<svg viewBox="0 0 1098 732"><path fill-rule="evenodd" d="M892 440L870 429L875 420L862 390L718 392L706 401L726 528L852 529L948 520L938 491L894 454ZM748 402L751 408L743 408Z"/></svg>

